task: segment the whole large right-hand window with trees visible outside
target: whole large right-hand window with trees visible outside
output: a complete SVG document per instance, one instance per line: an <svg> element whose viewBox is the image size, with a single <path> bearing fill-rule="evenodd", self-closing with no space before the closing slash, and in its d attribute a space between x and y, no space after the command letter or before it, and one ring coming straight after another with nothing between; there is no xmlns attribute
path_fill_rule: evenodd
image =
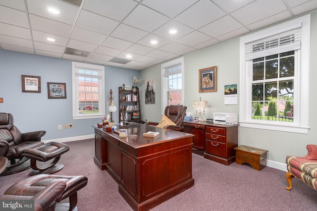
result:
<svg viewBox="0 0 317 211"><path fill-rule="evenodd" d="M242 127L308 133L310 15L240 38Z"/></svg>

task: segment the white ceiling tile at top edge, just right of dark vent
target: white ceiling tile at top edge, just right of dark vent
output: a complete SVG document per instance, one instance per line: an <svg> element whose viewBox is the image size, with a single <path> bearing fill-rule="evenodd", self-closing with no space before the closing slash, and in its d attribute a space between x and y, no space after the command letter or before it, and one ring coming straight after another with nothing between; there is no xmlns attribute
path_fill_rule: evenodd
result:
<svg viewBox="0 0 317 211"><path fill-rule="evenodd" d="M85 0L83 9L121 22L137 4L133 0Z"/></svg>

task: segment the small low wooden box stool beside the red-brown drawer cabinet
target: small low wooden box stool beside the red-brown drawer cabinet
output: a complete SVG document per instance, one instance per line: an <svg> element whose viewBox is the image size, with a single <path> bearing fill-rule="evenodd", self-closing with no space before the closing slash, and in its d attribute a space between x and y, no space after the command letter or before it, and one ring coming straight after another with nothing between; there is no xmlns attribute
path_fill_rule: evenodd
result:
<svg viewBox="0 0 317 211"><path fill-rule="evenodd" d="M267 150L261 150L253 147L241 145L235 147L236 150L236 163L248 163L253 169L260 171L266 166L266 153Z"/></svg>

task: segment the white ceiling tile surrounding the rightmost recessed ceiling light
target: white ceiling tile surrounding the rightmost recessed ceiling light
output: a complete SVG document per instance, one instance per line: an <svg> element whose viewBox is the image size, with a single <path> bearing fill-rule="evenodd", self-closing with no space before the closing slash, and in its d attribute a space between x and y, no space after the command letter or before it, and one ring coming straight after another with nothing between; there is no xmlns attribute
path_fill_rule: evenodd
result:
<svg viewBox="0 0 317 211"><path fill-rule="evenodd" d="M169 30L175 29L177 30L176 34L170 34ZM159 27L159 29L155 30L153 34L159 35L163 38L170 39L170 40L177 40L180 37L183 37L186 34L193 32L194 29L177 22L175 20L171 20L164 24L163 26Z"/></svg>

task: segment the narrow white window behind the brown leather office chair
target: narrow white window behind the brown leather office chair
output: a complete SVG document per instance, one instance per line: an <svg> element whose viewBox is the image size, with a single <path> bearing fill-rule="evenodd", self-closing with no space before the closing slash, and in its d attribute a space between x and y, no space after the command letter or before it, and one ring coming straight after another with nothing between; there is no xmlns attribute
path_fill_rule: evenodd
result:
<svg viewBox="0 0 317 211"><path fill-rule="evenodd" d="M166 106L184 105L184 58L162 64L162 113Z"/></svg>

